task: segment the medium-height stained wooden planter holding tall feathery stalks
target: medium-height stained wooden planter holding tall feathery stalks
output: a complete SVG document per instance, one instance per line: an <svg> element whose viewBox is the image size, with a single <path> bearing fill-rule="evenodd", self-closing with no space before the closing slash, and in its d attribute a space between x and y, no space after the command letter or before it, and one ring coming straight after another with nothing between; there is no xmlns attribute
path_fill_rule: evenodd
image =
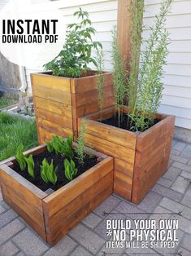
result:
<svg viewBox="0 0 191 256"><path fill-rule="evenodd" d="M114 108L105 109L102 119L113 115ZM100 112L84 118L85 143L114 157L114 192L138 204L167 170L175 117L158 114L161 121L140 134L102 124L99 118Z"/></svg>

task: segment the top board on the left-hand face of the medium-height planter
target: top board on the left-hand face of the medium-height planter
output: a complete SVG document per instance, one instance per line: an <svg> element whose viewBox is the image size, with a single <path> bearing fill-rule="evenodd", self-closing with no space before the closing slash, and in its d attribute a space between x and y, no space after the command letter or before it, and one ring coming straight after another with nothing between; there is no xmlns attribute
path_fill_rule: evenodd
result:
<svg viewBox="0 0 191 256"><path fill-rule="evenodd" d="M80 127L80 119L79 119ZM137 135L128 130L119 129L114 126L107 126L99 121L86 119L86 133L105 139L116 145L124 146L135 150Z"/></svg>

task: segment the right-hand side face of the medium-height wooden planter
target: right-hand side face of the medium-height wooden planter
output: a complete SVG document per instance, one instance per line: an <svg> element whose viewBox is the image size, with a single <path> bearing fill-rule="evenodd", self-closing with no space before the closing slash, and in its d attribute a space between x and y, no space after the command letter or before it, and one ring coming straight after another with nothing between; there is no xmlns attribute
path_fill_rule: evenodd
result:
<svg viewBox="0 0 191 256"><path fill-rule="evenodd" d="M175 117L165 117L157 125L137 136L132 202L139 203L167 170L174 124Z"/></svg>

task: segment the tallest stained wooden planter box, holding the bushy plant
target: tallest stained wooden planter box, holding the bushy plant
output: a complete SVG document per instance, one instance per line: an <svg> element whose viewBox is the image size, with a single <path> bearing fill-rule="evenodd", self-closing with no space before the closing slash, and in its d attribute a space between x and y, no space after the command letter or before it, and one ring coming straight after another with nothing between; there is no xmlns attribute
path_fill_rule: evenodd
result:
<svg viewBox="0 0 191 256"><path fill-rule="evenodd" d="M33 73L33 103L37 121L39 143L52 135L76 139L77 118L99 110L97 75L87 77L55 77L50 73ZM112 74L104 73L104 107L113 105Z"/></svg>

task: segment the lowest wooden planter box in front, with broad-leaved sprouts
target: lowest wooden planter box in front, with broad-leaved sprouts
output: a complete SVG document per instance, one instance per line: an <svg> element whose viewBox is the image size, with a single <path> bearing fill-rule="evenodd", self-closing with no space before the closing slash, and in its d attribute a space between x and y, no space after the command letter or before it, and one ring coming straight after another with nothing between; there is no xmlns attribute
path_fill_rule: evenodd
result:
<svg viewBox="0 0 191 256"><path fill-rule="evenodd" d="M44 150L45 144L25 154ZM93 155L100 160L96 166L50 195L14 171L15 157L3 161L0 174L4 201L54 245L113 192L113 158L95 151Z"/></svg>

